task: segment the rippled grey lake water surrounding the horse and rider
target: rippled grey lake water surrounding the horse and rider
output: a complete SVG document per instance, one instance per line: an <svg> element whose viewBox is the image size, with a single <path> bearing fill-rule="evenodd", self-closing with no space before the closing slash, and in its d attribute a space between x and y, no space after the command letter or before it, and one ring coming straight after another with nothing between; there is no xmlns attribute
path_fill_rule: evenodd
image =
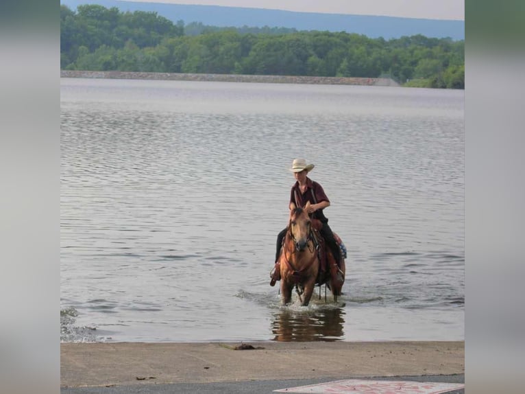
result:
<svg viewBox="0 0 525 394"><path fill-rule="evenodd" d="M60 84L63 341L463 339L463 91ZM269 286L295 157L348 250L338 303Z"/></svg>

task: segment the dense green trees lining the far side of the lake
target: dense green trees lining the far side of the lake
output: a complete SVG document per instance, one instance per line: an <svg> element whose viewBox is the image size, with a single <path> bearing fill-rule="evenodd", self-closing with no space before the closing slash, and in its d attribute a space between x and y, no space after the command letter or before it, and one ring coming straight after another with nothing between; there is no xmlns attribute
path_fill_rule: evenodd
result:
<svg viewBox="0 0 525 394"><path fill-rule="evenodd" d="M67 70L279 76L389 76L405 86L464 89L465 42L346 32L173 23L156 12L60 6Z"/></svg>

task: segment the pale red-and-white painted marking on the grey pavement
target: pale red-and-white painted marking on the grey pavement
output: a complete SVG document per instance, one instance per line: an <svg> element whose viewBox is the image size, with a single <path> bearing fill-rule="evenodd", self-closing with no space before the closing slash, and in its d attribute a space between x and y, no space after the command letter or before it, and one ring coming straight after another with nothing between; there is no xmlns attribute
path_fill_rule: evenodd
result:
<svg viewBox="0 0 525 394"><path fill-rule="evenodd" d="M274 390L274 392L310 394L441 394L464 388L465 384L460 383L351 379L291 387L289 389Z"/></svg>

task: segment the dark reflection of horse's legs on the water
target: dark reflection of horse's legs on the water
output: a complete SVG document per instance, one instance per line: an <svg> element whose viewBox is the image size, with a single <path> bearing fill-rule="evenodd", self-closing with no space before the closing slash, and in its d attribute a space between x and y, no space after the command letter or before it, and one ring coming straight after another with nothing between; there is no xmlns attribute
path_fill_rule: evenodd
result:
<svg viewBox="0 0 525 394"><path fill-rule="evenodd" d="M345 310L326 308L316 310L291 310L283 308L273 316L273 340L281 342L342 340Z"/></svg>

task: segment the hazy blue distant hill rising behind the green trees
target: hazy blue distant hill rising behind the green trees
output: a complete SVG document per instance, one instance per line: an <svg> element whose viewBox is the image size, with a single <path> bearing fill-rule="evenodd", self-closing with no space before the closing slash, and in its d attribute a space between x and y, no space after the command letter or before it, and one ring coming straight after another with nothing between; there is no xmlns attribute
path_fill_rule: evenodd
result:
<svg viewBox="0 0 525 394"><path fill-rule="evenodd" d="M386 40L422 34L432 38L465 39L465 21L439 19L411 19L392 16L365 16L345 14L315 14L256 8L219 7L215 5L182 5L168 3L139 3L121 0L60 0L60 4L75 10L77 5L99 4L117 7L121 12L157 12L160 16L185 25L200 22L218 27L287 27L297 30L319 30L363 34L369 38Z"/></svg>

